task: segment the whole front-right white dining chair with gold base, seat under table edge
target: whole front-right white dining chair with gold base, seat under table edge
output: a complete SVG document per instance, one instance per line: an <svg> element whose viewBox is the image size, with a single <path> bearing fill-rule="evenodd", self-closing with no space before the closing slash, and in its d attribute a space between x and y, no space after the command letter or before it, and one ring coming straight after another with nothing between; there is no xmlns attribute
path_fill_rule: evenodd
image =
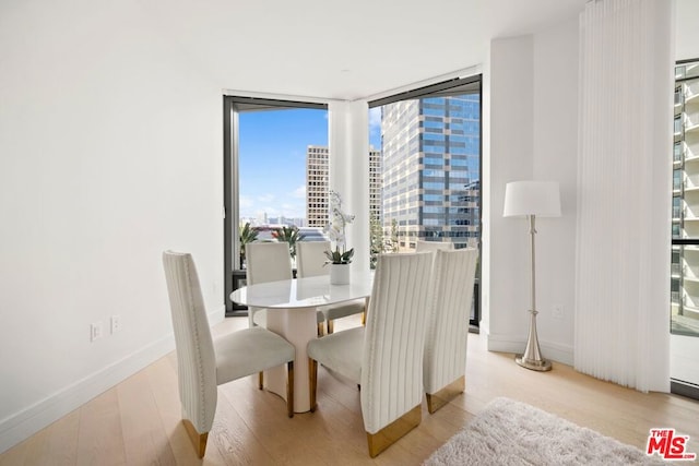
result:
<svg viewBox="0 0 699 466"><path fill-rule="evenodd" d="M423 351L433 253L381 254L366 326L308 343L310 406L318 363L360 384L369 455L377 456L422 420Z"/></svg>

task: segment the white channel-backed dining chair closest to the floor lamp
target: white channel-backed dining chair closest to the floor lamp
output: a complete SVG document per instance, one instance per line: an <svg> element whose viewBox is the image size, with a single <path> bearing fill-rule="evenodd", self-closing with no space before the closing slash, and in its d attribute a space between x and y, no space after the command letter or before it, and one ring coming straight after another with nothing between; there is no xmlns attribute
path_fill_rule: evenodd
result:
<svg viewBox="0 0 699 466"><path fill-rule="evenodd" d="M439 250L433 270L424 384L430 414L465 387L466 338L478 251Z"/></svg>

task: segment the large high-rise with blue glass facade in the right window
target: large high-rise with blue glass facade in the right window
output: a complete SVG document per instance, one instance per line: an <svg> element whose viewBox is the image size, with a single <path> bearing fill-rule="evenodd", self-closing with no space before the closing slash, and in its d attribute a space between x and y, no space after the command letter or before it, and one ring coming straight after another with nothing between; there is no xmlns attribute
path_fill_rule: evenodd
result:
<svg viewBox="0 0 699 466"><path fill-rule="evenodd" d="M382 107L383 231L399 250L417 239L475 247L479 238L481 97L464 94Z"/></svg>

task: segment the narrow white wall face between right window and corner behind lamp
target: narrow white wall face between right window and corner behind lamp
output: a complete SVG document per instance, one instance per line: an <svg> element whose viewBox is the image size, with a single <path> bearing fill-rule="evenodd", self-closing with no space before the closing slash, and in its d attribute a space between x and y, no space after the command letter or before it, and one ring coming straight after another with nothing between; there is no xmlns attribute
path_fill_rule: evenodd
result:
<svg viewBox="0 0 699 466"><path fill-rule="evenodd" d="M497 343L523 342L526 335L530 299L526 226L523 220L502 218L502 205L508 181L532 177L532 48L531 36L490 44L490 176L484 190L490 208L483 212L489 222L485 241L489 249L490 283L485 287L483 301L489 311L490 349L497 349Z"/></svg>

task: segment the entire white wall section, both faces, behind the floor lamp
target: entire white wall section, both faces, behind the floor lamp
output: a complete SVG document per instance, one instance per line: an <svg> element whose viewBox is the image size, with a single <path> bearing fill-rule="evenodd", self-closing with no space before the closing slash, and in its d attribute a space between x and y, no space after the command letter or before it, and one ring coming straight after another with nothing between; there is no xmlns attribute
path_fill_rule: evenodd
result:
<svg viewBox="0 0 699 466"><path fill-rule="evenodd" d="M520 179L560 182L560 218L538 218L536 307L544 357L572 362L578 19L535 35L493 40L489 59L490 147L484 289L488 348L523 351L529 326L529 225L503 218L505 184ZM486 77L487 79L487 77ZM484 166L486 163L484 163ZM484 225L485 226L485 225ZM553 308L562 309L554 318Z"/></svg>

